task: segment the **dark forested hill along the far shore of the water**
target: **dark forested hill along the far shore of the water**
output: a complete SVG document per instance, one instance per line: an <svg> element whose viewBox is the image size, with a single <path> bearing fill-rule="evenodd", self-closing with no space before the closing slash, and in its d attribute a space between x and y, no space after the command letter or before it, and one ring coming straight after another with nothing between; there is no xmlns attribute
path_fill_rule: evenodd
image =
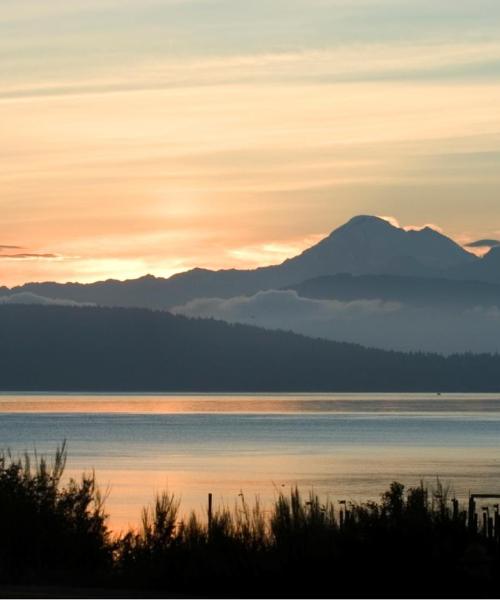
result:
<svg viewBox="0 0 500 600"><path fill-rule="evenodd" d="M500 356L403 354L145 309L0 306L0 389L500 391Z"/></svg>

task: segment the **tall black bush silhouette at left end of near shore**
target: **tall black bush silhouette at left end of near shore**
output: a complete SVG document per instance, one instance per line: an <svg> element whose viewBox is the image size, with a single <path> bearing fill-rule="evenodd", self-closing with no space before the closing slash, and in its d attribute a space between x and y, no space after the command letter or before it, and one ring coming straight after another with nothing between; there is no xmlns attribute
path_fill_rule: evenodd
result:
<svg viewBox="0 0 500 600"><path fill-rule="evenodd" d="M112 548L94 474L62 485L66 445L51 464L0 454L0 577L87 578L106 569Z"/></svg>

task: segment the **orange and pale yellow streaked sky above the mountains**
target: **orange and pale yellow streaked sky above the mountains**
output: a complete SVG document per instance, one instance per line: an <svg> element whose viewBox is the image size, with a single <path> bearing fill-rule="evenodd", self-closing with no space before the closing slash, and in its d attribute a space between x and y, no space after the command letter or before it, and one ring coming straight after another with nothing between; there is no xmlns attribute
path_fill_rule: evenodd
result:
<svg viewBox="0 0 500 600"><path fill-rule="evenodd" d="M498 0L0 2L0 285L500 236Z"/></svg>

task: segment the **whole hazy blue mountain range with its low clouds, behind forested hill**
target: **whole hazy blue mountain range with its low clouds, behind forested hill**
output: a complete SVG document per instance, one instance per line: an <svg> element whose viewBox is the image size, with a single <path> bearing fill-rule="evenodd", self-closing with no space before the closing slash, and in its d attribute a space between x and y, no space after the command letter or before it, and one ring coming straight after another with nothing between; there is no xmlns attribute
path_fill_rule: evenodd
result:
<svg viewBox="0 0 500 600"><path fill-rule="evenodd" d="M5 304L140 307L385 350L500 353L500 246L479 258L429 227L362 215L279 265L28 283L0 288Z"/></svg>

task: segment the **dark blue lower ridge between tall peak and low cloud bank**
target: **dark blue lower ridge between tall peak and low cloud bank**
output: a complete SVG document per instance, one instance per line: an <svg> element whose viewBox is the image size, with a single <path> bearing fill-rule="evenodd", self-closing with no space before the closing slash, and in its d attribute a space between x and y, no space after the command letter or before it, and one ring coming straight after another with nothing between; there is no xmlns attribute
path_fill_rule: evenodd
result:
<svg viewBox="0 0 500 600"><path fill-rule="evenodd" d="M479 267L473 263L474 269ZM444 309L500 307L500 284L399 275L326 275L288 286L303 298L383 300Z"/></svg>

